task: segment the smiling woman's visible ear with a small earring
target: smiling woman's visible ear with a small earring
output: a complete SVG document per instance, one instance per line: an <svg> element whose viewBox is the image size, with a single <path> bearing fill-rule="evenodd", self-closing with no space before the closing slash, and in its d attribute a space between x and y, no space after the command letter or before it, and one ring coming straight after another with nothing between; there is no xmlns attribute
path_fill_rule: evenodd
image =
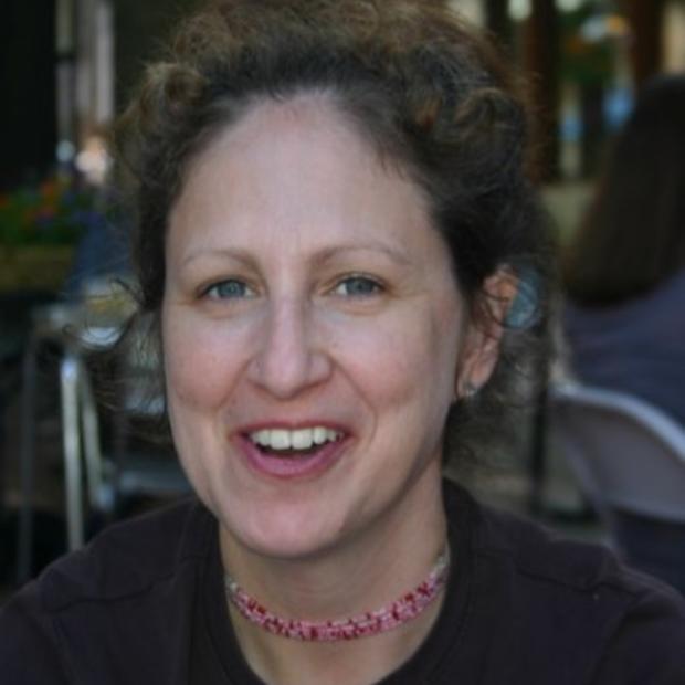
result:
<svg viewBox="0 0 685 685"><path fill-rule="evenodd" d="M477 392L489 379L499 358L499 344L507 312L516 297L518 278L508 267L488 276L464 334L457 378L456 399Z"/></svg>

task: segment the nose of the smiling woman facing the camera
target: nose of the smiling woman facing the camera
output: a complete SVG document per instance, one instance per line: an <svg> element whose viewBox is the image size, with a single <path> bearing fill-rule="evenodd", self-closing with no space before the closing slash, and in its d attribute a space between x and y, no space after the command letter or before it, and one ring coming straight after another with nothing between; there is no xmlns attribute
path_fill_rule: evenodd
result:
<svg viewBox="0 0 685 685"><path fill-rule="evenodd" d="M333 363L318 338L306 303L272 303L250 361L250 379L282 400L325 382Z"/></svg>

